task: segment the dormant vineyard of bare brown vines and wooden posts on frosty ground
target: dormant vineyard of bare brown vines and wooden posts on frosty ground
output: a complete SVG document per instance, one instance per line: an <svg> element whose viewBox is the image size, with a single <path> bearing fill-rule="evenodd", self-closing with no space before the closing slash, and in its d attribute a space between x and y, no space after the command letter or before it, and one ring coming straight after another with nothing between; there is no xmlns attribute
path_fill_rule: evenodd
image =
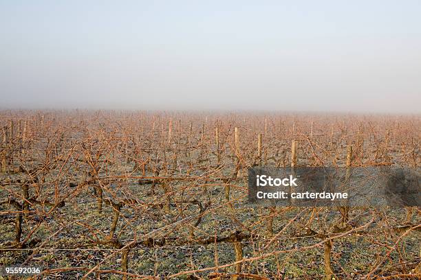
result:
<svg viewBox="0 0 421 280"><path fill-rule="evenodd" d="M32 279L421 275L419 207L247 198L256 165L419 168L418 115L3 110L0 124L0 267L40 266Z"/></svg>

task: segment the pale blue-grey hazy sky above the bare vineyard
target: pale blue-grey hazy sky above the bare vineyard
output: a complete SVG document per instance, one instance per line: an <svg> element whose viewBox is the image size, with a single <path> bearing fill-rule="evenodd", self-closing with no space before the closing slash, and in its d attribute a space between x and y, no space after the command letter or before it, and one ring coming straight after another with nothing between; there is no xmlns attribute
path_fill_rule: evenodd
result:
<svg viewBox="0 0 421 280"><path fill-rule="evenodd" d="M421 113L420 15L420 0L0 0L0 108Z"/></svg>

